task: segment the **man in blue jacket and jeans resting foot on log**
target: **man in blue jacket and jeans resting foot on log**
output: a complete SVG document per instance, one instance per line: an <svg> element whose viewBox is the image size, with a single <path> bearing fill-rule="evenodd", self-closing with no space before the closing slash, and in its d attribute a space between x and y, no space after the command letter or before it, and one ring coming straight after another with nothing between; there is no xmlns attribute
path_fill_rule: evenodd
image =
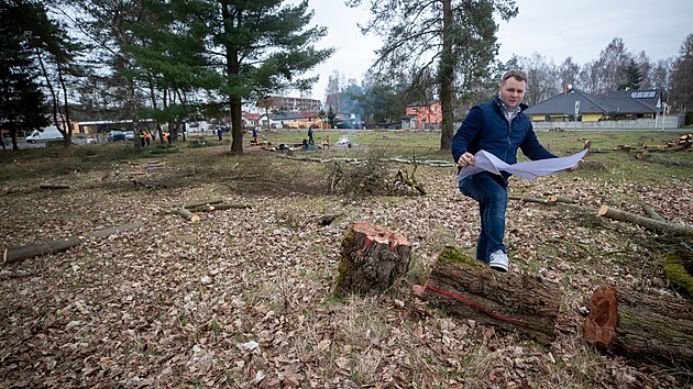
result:
<svg viewBox="0 0 693 389"><path fill-rule="evenodd" d="M537 140L529 118L522 113L527 76L510 70L503 76L498 96L472 107L452 138L452 157L459 168L473 166L474 154L484 149L507 164L517 162L519 147L528 158L557 158ZM476 259L498 271L508 271L505 235L505 211L508 204L508 177L482 171L460 181L460 191L479 202L481 233L476 242Z"/></svg>

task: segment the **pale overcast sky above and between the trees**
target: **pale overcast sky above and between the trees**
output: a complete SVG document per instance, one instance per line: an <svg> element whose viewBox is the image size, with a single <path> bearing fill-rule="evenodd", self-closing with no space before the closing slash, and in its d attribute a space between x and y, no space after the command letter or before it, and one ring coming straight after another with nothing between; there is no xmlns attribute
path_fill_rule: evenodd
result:
<svg viewBox="0 0 693 389"><path fill-rule="evenodd" d="M343 0L309 0L312 22L328 27L317 47L337 52L307 75L319 75L310 95L324 101L328 78L334 70L360 84L381 47L380 37L362 35L356 23L365 23L365 5L351 9ZM597 59L614 37L624 40L635 55L645 51L650 60L676 57L681 44L693 34L691 0L516 0L519 13L509 22L497 21L498 59L534 53L560 65L571 56L580 66ZM298 95L297 95L298 96Z"/></svg>

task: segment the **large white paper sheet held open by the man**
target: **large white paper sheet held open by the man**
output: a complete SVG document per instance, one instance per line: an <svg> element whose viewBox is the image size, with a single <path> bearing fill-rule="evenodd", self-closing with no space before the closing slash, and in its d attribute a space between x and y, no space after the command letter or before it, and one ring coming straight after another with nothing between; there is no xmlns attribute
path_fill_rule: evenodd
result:
<svg viewBox="0 0 693 389"><path fill-rule="evenodd" d="M458 184L463 178L480 171L491 171L494 175L498 176L501 175L501 171L507 171L525 179L548 176L550 174L563 171L578 165L578 163L582 159L582 157L585 156L585 154L587 154L587 152L588 149L585 148L582 152L573 154L569 157L530 160L508 165L495 155L482 149L474 155L474 159L476 159L474 166L468 166L460 170L460 173L458 174Z"/></svg>

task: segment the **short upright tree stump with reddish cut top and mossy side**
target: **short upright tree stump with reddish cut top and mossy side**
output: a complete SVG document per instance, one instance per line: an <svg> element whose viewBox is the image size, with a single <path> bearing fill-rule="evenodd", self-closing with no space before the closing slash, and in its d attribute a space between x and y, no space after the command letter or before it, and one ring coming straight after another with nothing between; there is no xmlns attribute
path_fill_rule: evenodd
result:
<svg viewBox="0 0 693 389"><path fill-rule="evenodd" d="M384 226L359 221L342 240L337 296L383 292L409 269L411 244Z"/></svg>

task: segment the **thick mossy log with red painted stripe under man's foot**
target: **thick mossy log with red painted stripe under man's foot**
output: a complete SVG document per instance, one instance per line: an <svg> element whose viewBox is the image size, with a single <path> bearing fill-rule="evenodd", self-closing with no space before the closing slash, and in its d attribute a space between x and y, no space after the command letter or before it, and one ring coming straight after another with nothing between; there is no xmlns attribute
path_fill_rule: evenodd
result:
<svg viewBox="0 0 693 389"><path fill-rule="evenodd" d="M452 247L442 249L424 287L424 298L449 314L517 330L544 344L553 340L562 294L536 276L499 274Z"/></svg>

